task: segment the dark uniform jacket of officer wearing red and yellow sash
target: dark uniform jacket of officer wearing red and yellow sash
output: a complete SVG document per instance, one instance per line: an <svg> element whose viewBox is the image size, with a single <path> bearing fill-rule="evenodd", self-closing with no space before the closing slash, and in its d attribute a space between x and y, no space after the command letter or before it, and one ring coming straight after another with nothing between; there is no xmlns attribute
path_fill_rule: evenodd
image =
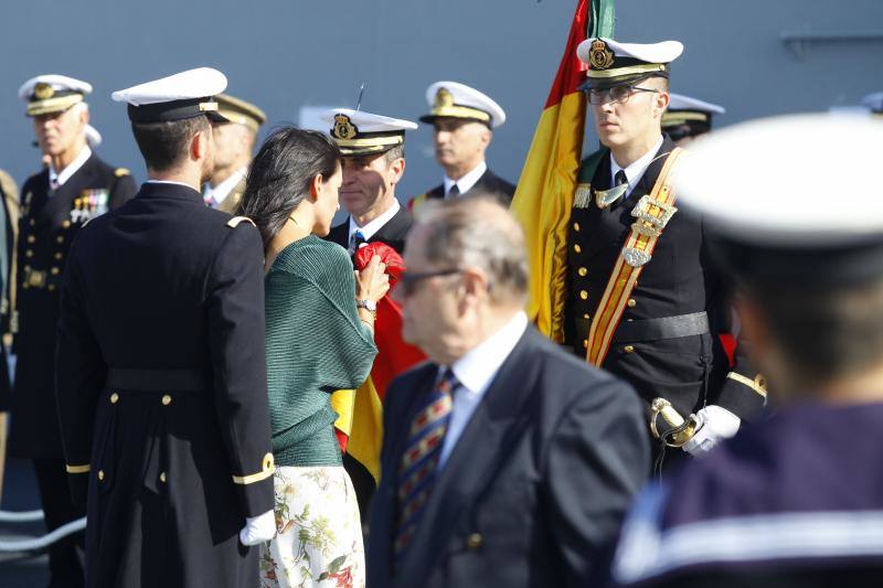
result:
<svg viewBox="0 0 883 588"><path fill-rule="evenodd" d="M650 194L674 143L666 138L656 159L634 186L628 197L599 209L594 194L586 207L574 207L567 240L567 291L565 341L574 353L585 359L585 332L595 318L607 281L631 231L631 211L645 194ZM600 158L592 188L611 186L610 153ZM586 160L587 161L587 160ZM677 202L674 203L677 206ZM714 334L726 323L720 313L728 307L727 277L715 267L711 238L700 220L678 212L664 227L652 259L643 266L620 327L643 321L706 312L710 331L704 334L617 342L616 335L602 367L635 386L647 405L661 396L683 416L704 404L723 406L736 416L758 411L765 402L754 384L757 377L740 346L732 367L742 379L727 377L728 359ZM576 324L583 321L584 331Z"/></svg>

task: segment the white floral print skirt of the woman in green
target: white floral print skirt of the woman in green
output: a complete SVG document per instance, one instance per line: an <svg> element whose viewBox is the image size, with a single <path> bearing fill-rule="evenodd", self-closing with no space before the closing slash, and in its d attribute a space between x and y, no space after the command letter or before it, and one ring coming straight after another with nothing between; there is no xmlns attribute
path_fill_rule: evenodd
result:
<svg viewBox="0 0 883 588"><path fill-rule="evenodd" d="M260 547L260 588L362 588L359 503L341 466L276 468L276 537Z"/></svg>

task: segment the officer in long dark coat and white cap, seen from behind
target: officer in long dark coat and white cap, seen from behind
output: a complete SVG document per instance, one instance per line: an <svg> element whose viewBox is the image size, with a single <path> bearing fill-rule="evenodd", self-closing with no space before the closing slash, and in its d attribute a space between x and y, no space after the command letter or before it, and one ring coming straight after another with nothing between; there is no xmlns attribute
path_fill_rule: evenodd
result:
<svg viewBox="0 0 883 588"><path fill-rule="evenodd" d="M249 586L246 546L275 533L260 236L199 192L225 86L200 68L113 95L150 179L81 232L58 323L89 587Z"/></svg>

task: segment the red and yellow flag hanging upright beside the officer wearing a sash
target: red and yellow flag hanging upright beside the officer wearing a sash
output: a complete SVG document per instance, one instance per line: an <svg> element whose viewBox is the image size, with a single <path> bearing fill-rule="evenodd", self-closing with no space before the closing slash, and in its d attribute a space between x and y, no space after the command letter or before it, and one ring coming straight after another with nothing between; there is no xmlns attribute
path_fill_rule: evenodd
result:
<svg viewBox="0 0 883 588"><path fill-rule="evenodd" d="M591 36L611 36L613 0L579 0L557 75L533 135L518 182L512 213L526 236L531 268L528 316L553 341L564 339L567 224L586 125L586 100L577 88L586 65L576 46Z"/></svg>

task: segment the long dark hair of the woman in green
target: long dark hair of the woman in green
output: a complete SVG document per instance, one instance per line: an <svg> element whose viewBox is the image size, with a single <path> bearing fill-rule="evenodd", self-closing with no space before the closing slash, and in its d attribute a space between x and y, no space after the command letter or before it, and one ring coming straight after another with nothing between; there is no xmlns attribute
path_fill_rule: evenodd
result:
<svg viewBox="0 0 883 588"><path fill-rule="evenodd" d="M312 179L320 173L330 178L339 164L340 150L321 132L274 130L252 161L237 214L254 221L266 248L307 197Z"/></svg>

